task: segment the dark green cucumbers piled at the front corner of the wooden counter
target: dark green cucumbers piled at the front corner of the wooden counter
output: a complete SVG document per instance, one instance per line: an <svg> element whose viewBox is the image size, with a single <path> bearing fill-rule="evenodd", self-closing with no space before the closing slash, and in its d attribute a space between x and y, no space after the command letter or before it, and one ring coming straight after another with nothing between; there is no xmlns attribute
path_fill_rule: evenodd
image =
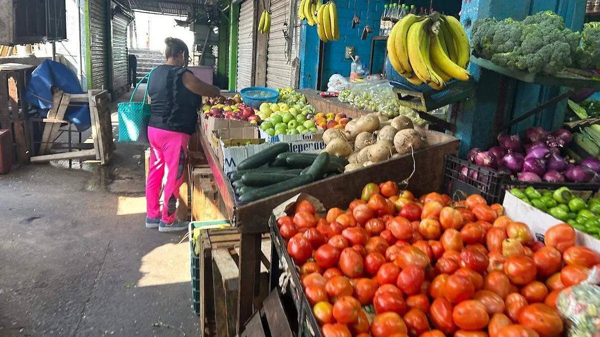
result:
<svg viewBox="0 0 600 337"><path fill-rule="evenodd" d="M288 143L276 143L238 164L229 179L241 203L270 197L325 177L343 173L345 158L288 152Z"/></svg>

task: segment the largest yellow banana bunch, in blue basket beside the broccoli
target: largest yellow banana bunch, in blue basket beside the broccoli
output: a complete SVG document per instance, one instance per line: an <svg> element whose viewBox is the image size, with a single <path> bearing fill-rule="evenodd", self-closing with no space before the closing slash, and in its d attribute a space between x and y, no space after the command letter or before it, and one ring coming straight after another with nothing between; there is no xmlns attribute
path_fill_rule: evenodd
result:
<svg viewBox="0 0 600 337"><path fill-rule="evenodd" d="M389 62L413 85L442 90L452 79L469 80L467 34L453 16L408 14L388 37Z"/></svg>

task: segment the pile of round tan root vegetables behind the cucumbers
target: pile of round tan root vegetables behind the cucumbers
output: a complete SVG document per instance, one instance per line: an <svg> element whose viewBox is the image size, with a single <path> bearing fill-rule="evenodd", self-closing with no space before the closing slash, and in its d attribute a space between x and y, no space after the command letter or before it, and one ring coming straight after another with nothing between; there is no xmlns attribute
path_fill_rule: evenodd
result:
<svg viewBox="0 0 600 337"><path fill-rule="evenodd" d="M358 170L427 146L415 130L410 118L388 119L381 113L370 113L346 124L345 130L328 129L323 133L325 152L347 158L344 172Z"/></svg>

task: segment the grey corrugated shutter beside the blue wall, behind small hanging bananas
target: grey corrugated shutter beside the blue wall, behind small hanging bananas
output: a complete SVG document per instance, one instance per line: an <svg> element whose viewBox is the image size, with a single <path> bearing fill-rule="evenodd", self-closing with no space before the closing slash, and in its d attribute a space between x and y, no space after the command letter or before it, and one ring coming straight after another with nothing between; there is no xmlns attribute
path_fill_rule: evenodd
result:
<svg viewBox="0 0 600 337"><path fill-rule="evenodd" d="M291 6L290 0L271 0L271 32L266 54L266 86L269 88L296 86L300 30L298 15L292 13ZM290 31L290 21L293 25L292 34L286 41L283 31ZM290 52L287 52L289 48Z"/></svg>

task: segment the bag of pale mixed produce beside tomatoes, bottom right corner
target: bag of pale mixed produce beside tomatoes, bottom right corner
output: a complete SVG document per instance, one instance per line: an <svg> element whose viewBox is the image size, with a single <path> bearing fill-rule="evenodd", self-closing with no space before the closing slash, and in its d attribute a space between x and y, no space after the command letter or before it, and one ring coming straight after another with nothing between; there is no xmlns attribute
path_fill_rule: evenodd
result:
<svg viewBox="0 0 600 337"><path fill-rule="evenodd" d="M593 267L578 285L559 294L556 308L569 337L600 337L600 268Z"/></svg>

